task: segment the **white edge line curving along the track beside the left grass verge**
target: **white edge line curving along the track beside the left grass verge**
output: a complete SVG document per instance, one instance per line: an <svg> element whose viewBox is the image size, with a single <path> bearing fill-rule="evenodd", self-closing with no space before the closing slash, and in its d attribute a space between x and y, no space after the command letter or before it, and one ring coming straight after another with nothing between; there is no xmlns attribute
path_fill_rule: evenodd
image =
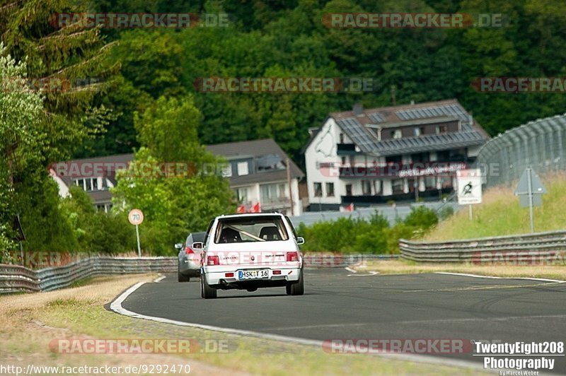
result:
<svg viewBox="0 0 566 376"><path fill-rule="evenodd" d="M180 327L193 327L193 328L200 328L200 329L207 329L212 331L220 331L222 333L229 333L229 334L239 334L241 336L252 336L260 339L271 339L273 341L283 341L289 343L296 343L305 346L316 346L318 348L323 348L323 341L314 340L314 339L302 339L297 337L291 336L281 336L279 334L267 334L267 333L260 333L258 331L250 331L250 330L242 330L242 329L231 329L231 328L223 328L223 327L214 327L212 325L204 325L204 324L195 324L190 322L182 322L172 319L165 319L163 317L154 317L154 316L147 316L141 315L136 312L132 312L126 310L122 307L122 302L126 300L126 298L134 293L140 286L144 285L145 282L136 283L134 286L125 290L119 297L117 297L112 303L110 303L110 310L120 314L125 315L128 317L134 317L136 319L145 319L150 321L161 322L163 324L173 324L178 325ZM420 362L420 363L429 363L434 365L453 365L454 367L462 367L462 368L471 368L473 370L484 370L483 367L478 363L472 363L466 360L455 360L455 359L447 359L447 358L436 358L434 356L426 356L422 354L399 354L399 353L388 353L388 354L368 354L374 356L383 356L388 358L395 358L400 360L408 360L412 362Z"/></svg>

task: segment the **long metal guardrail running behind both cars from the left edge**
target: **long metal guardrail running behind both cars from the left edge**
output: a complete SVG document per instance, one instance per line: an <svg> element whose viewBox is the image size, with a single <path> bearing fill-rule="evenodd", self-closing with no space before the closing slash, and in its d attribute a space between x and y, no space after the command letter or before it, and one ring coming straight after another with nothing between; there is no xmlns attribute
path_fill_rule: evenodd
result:
<svg viewBox="0 0 566 376"><path fill-rule="evenodd" d="M306 252L304 262L307 267L343 267L364 260L397 257L381 254ZM68 287L79 279L92 276L176 271L177 257L91 257L37 271L19 265L0 264L0 293L51 291Z"/></svg>

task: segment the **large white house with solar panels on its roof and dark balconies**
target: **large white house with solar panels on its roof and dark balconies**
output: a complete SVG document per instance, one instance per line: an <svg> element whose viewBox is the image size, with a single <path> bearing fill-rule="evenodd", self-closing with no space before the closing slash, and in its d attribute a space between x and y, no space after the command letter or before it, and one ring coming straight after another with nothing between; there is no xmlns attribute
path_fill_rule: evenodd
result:
<svg viewBox="0 0 566 376"><path fill-rule="evenodd" d="M304 148L310 210L438 198L487 139L455 99L331 113Z"/></svg>

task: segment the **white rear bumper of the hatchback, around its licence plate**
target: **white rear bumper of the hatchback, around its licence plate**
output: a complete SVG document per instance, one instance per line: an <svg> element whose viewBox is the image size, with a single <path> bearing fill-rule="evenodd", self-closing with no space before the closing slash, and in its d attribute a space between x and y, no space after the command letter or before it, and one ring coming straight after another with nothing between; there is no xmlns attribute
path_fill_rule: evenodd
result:
<svg viewBox="0 0 566 376"><path fill-rule="evenodd" d="M239 271L245 270L267 270L269 276L261 279L240 279L238 278ZM280 271L280 274L273 274L273 271ZM226 274L233 273L233 276L226 276ZM229 288L260 288L260 287L277 287L285 286L289 282L299 281L301 275L301 268L298 266L293 267L208 267L204 270L204 278L210 286L221 289Z"/></svg>

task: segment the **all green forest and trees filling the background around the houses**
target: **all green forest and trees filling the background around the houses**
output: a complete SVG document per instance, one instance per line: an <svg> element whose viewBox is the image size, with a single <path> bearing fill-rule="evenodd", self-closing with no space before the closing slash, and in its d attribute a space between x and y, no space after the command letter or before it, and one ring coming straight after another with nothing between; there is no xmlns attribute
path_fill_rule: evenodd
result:
<svg viewBox="0 0 566 376"><path fill-rule="evenodd" d="M83 28L69 13L227 15L223 27ZM330 28L330 13L501 15L499 27ZM492 135L565 112L563 93L482 93L481 77L565 77L566 3L525 0L0 0L0 249L134 248L120 210L144 208L142 241L171 252L233 209L225 180L119 181L120 208L66 199L47 166L134 151L137 161L214 163L202 145L274 138L297 163L329 112L457 98ZM207 23L202 23L209 26ZM203 93L210 77L371 80L339 93ZM37 78L61 90L13 90ZM41 81L40 81L41 82ZM64 90L63 90L64 88ZM147 184L146 184L147 183ZM196 193L197 194L196 194ZM166 204L163 204L166 203ZM152 243L153 242L153 243Z"/></svg>

